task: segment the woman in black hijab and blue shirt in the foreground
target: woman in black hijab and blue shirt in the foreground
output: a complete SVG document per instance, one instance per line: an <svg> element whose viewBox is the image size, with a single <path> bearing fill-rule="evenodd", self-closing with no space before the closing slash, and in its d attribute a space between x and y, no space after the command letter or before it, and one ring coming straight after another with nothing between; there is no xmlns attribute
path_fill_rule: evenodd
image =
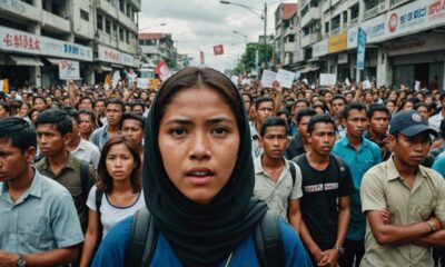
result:
<svg viewBox="0 0 445 267"><path fill-rule="evenodd" d="M159 89L148 117L144 192L158 239L150 266L256 266L253 231L267 211L243 98L222 73L186 68ZM93 266L123 266L132 218L107 235ZM286 266L310 266L279 221ZM148 227L148 226L147 226Z"/></svg>

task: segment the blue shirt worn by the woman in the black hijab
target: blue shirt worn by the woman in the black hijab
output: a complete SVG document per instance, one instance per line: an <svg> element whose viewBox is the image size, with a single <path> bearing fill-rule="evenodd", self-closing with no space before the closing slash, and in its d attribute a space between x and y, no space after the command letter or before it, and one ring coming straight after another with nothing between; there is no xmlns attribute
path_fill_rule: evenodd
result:
<svg viewBox="0 0 445 267"><path fill-rule="evenodd" d="M129 217L108 233L96 254L92 263L93 267L123 266L132 220L134 217ZM295 230L284 220L279 219L279 222L285 249L285 266L312 266L310 259ZM228 258L220 266L225 266L227 260ZM150 266L181 266L167 239L160 233ZM251 235L239 244L231 256L229 266L259 266Z"/></svg>

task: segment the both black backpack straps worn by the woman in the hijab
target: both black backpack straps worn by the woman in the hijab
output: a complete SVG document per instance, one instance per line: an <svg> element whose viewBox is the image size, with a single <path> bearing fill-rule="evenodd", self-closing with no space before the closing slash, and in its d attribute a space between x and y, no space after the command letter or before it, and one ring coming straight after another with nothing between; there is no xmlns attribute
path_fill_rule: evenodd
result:
<svg viewBox="0 0 445 267"><path fill-rule="evenodd" d="M125 266L146 267L151 261L158 240L158 231L147 208L134 217ZM255 250L261 267L284 266L284 247L278 218L267 210L254 230Z"/></svg>

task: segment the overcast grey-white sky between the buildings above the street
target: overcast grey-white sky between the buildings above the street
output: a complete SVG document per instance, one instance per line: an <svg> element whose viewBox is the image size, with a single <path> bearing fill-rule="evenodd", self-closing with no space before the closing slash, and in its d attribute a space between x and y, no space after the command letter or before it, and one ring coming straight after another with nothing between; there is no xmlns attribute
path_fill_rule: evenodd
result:
<svg viewBox="0 0 445 267"><path fill-rule="evenodd" d="M245 49L245 38L234 30L247 34L247 41L258 40L264 32L264 21L259 18L264 9L263 0L231 1L259 9L257 14L233 4L221 4L219 0L142 0L139 14L141 32L171 33L179 53L194 58L199 65L199 51L204 51L206 65L220 71L234 68ZM267 33L274 32L274 13L280 1L268 0ZM283 2L296 2L284 0ZM166 26L159 26L166 23ZM224 44L225 55L214 56L212 47Z"/></svg>

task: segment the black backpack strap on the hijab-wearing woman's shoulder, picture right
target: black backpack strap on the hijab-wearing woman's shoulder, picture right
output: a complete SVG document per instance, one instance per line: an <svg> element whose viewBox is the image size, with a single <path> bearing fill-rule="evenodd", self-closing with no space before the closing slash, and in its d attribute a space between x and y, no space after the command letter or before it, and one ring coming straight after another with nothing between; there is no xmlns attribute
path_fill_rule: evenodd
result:
<svg viewBox="0 0 445 267"><path fill-rule="evenodd" d="M254 231L255 249L259 266L284 266L285 251L278 218L267 210Z"/></svg>

